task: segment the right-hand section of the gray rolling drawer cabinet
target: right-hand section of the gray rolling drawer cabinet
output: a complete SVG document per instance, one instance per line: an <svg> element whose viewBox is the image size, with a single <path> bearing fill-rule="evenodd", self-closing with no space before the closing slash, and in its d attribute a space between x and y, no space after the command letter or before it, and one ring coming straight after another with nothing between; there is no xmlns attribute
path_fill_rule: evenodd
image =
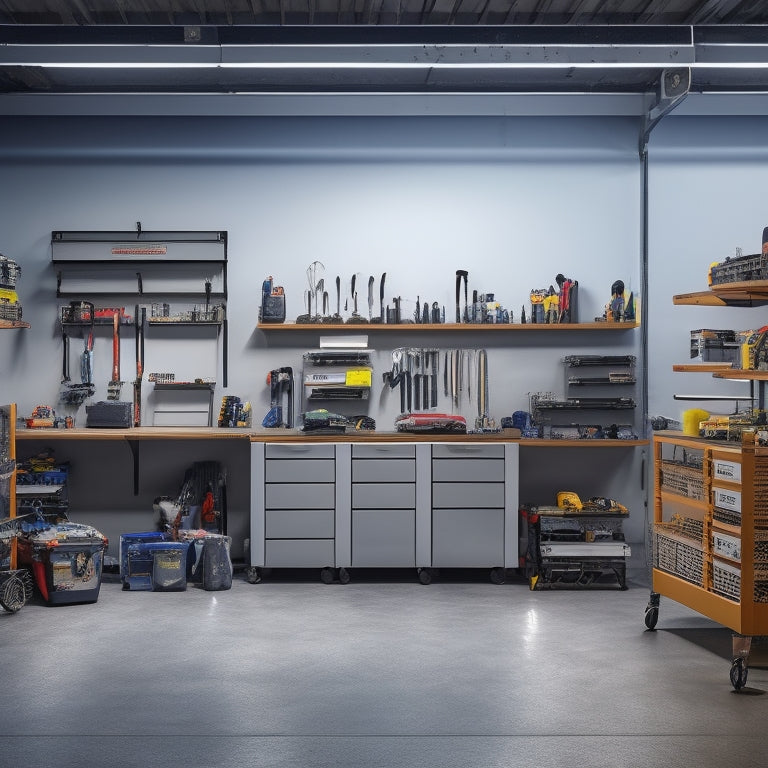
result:
<svg viewBox="0 0 768 768"><path fill-rule="evenodd" d="M432 449L432 565L517 566L517 445L439 443Z"/></svg>

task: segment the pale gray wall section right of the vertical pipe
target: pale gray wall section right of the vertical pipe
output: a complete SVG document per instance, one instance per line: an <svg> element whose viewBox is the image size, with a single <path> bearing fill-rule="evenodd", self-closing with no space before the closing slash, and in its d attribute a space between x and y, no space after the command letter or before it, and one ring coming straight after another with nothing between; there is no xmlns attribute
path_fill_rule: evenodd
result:
<svg viewBox="0 0 768 768"><path fill-rule="evenodd" d="M765 308L673 306L672 296L707 289L713 262L759 253L768 171L768 119L689 117L660 123L650 147L649 412L679 419L688 408L731 413L734 401L679 401L675 394L748 395L749 385L705 373L675 373L689 355L690 331L746 330Z"/></svg>

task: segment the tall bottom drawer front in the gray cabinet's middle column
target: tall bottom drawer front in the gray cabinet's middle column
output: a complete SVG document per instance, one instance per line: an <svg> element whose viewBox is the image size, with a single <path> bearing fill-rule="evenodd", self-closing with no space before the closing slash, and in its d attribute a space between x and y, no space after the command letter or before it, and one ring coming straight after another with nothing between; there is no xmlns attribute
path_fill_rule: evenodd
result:
<svg viewBox="0 0 768 768"><path fill-rule="evenodd" d="M412 509L352 511L352 565L358 568L416 566L416 512Z"/></svg>

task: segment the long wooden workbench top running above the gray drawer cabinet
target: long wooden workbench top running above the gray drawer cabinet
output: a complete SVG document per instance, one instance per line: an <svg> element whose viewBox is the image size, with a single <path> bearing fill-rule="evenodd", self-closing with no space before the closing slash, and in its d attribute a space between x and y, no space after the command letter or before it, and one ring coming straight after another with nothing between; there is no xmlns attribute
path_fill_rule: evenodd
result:
<svg viewBox="0 0 768 768"><path fill-rule="evenodd" d="M16 440L248 440L264 443L517 443L543 448L608 448L648 445L648 440L544 440L494 432L469 435L372 432L307 435L296 430L255 431L219 427L136 427L133 429L17 429Z"/></svg>

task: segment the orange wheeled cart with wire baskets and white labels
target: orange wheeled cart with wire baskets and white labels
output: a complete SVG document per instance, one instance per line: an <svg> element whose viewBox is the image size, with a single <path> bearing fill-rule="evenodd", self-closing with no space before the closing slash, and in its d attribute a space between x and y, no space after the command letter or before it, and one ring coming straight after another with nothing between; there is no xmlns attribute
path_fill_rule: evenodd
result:
<svg viewBox="0 0 768 768"><path fill-rule="evenodd" d="M655 628L664 596L733 630L731 683L739 690L747 679L744 639L768 635L768 447L754 433L733 445L659 432L653 450L646 627ZM700 457L700 467L683 452Z"/></svg>

